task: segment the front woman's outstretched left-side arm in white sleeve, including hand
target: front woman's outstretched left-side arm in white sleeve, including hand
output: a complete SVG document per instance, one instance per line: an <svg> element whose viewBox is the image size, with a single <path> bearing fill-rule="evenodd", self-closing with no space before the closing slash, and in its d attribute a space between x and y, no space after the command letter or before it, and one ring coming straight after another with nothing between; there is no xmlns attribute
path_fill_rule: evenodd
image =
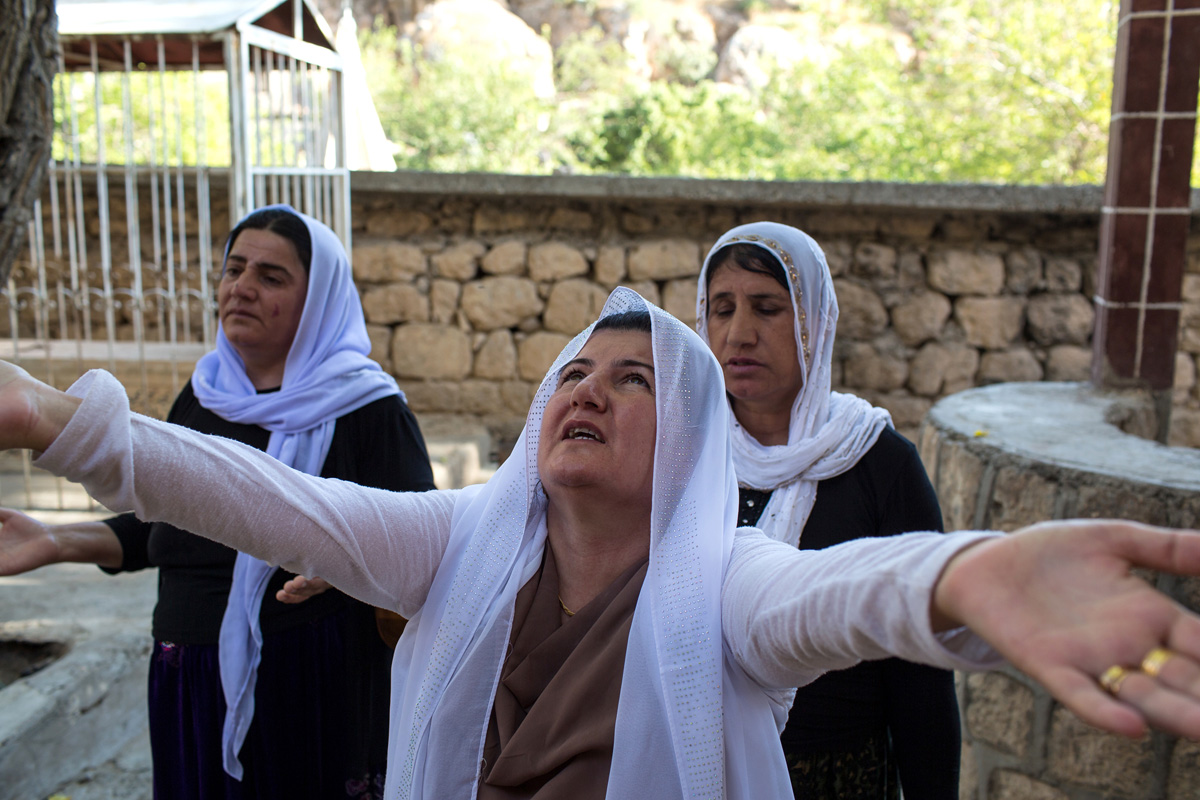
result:
<svg viewBox="0 0 1200 800"><path fill-rule="evenodd" d="M0 363L0 446L43 450L38 465L109 509L168 522L365 602L414 614L445 553L455 493L395 493L304 475L220 437L131 414L90 373L85 402Z"/></svg>

